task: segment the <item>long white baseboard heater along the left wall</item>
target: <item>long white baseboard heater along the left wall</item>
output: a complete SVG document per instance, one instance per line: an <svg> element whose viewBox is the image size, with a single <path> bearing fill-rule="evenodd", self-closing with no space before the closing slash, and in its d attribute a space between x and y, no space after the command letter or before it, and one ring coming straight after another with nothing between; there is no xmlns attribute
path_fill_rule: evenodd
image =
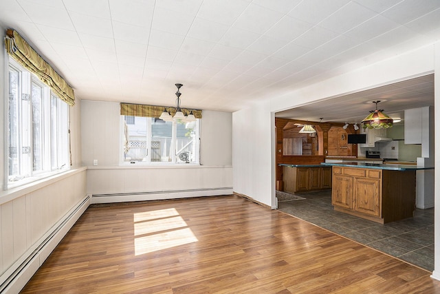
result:
<svg viewBox="0 0 440 294"><path fill-rule="evenodd" d="M25 284L36 273L41 264L52 253L76 220L89 207L90 196L87 195L74 208L65 214L54 227L36 242L10 269L1 275L0 293L19 293Z"/></svg>

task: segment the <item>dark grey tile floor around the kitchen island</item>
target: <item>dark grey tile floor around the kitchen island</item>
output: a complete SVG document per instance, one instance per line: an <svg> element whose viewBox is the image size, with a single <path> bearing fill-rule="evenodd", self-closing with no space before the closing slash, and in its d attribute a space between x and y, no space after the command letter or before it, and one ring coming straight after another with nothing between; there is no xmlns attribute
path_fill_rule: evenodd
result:
<svg viewBox="0 0 440 294"><path fill-rule="evenodd" d="M377 224L334 211L331 190L297 195L305 199L278 200L278 210L434 271L434 209L416 209L414 218Z"/></svg>

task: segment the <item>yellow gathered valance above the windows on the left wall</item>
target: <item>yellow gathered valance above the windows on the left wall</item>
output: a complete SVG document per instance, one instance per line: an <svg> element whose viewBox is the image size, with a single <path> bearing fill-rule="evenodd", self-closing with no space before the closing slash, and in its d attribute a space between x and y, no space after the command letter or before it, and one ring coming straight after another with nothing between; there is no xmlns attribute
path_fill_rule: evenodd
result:
<svg viewBox="0 0 440 294"><path fill-rule="evenodd" d="M48 85L52 91L67 104L75 105L75 94L72 87L67 85L64 78L55 72L28 42L23 39L15 30L8 29L5 38L6 51L15 61L23 65L40 80Z"/></svg>

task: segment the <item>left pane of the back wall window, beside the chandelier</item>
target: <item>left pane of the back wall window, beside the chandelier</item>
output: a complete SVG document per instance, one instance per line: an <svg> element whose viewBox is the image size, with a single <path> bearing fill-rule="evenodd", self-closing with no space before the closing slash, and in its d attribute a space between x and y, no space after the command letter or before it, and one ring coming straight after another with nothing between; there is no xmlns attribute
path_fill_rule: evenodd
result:
<svg viewBox="0 0 440 294"><path fill-rule="evenodd" d="M124 153L124 161L147 160L146 120L147 118L136 116L132 125L126 125L128 152Z"/></svg>

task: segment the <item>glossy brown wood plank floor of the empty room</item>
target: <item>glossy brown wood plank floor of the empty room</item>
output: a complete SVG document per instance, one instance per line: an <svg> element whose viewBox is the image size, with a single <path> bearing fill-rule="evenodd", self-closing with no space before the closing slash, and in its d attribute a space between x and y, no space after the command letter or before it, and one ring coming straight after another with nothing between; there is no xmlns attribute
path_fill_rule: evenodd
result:
<svg viewBox="0 0 440 294"><path fill-rule="evenodd" d="M430 273L239 196L92 205L22 293L440 293Z"/></svg>

